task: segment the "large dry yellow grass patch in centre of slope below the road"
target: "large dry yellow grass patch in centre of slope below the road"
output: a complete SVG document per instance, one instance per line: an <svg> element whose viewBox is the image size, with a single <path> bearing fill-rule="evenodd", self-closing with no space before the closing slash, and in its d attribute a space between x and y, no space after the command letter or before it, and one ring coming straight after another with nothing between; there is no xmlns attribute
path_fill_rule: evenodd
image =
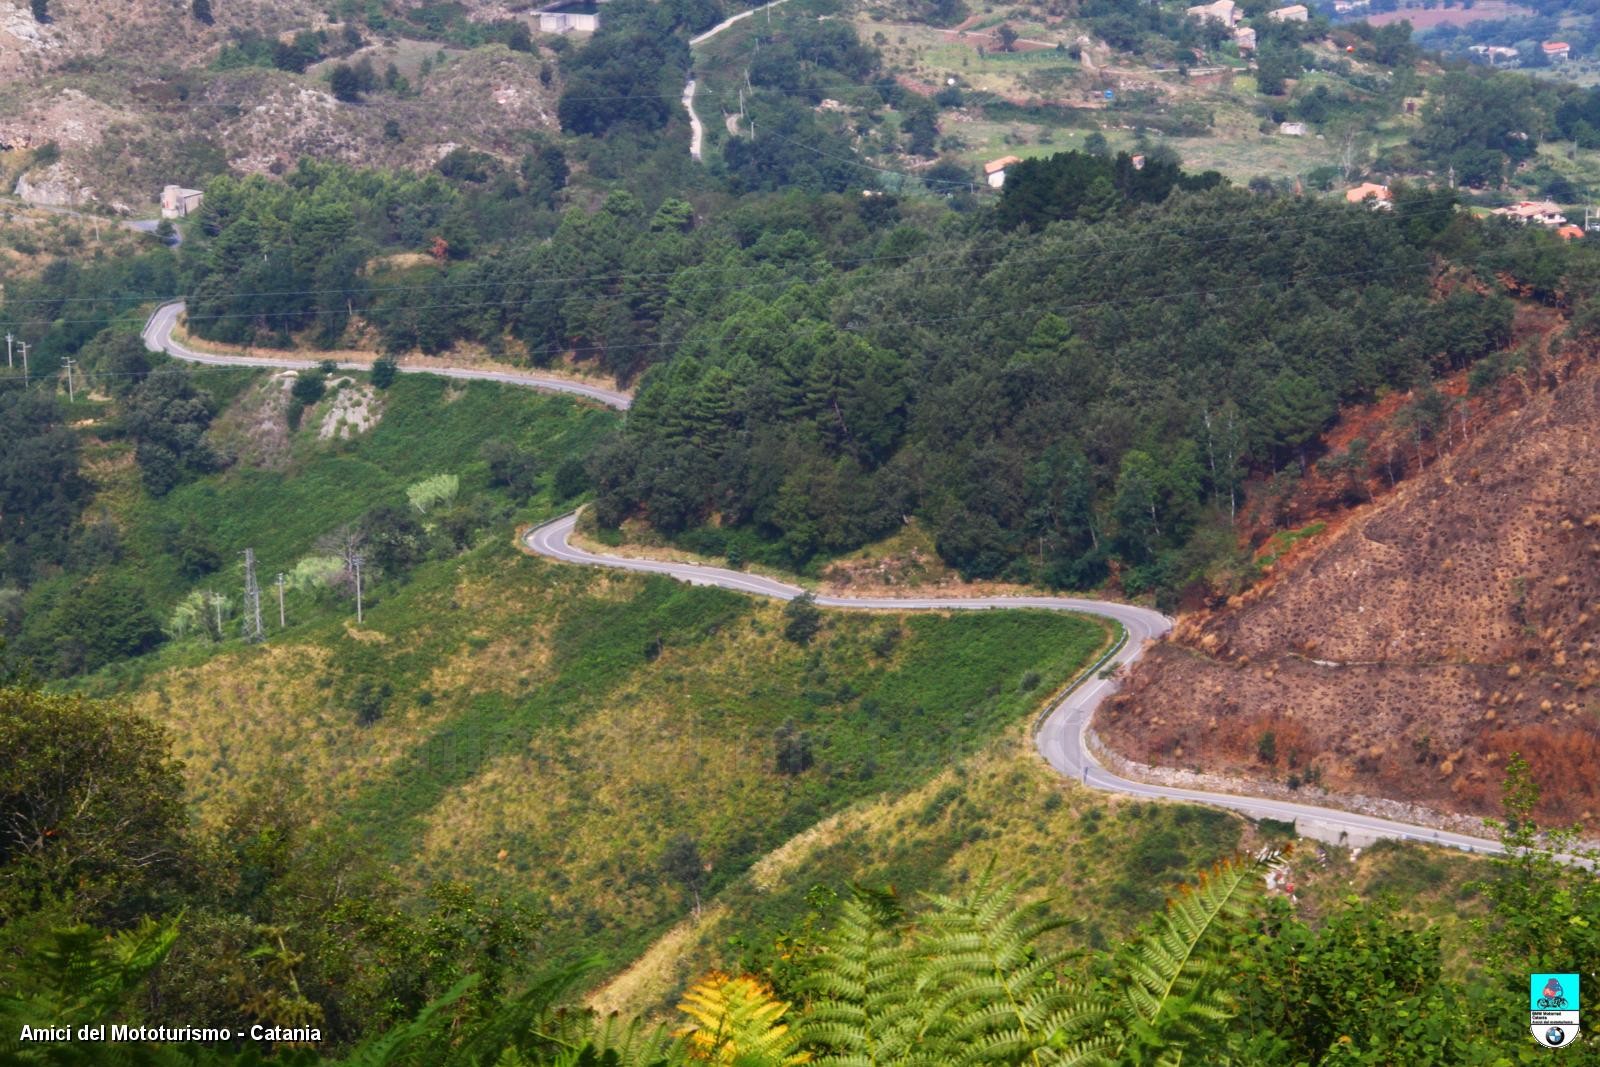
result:
<svg viewBox="0 0 1600 1067"><path fill-rule="evenodd" d="M611 694L571 728L538 733L448 793L427 819L421 857L432 869L488 873L504 848L515 881L558 912L664 917L678 891L629 878L624 867L653 867L666 827L704 837L730 811L771 808L770 737L747 728L738 707L802 656L749 627L666 649L648 689ZM712 726L683 710L707 705L726 709Z"/></svg>

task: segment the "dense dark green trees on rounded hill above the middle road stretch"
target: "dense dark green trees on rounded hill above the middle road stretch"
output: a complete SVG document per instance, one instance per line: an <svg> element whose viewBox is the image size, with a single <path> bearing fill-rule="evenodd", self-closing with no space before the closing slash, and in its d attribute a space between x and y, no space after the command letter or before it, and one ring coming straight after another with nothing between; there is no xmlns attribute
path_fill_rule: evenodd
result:
<svg viewBox="0 0 1600 1067"><path fill-rule="evenodd" d="M1394 216L1216 190L730 293L643 381L597 514L720 515L790 566L920 515L973 576L1082 585L1118 557L1171 587L1246 470L1504 342L1504 298L1437 304L1429 277Z"/></svg>

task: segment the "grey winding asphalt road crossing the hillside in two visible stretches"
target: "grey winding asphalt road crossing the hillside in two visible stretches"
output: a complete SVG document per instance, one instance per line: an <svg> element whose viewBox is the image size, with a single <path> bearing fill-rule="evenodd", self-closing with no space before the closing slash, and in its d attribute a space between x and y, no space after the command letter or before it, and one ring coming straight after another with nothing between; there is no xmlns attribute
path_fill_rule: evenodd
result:
<svg viewBox="0 0 1600 1067"><path fill-rule="evenodd" d="M173 341L173 326L182 314L182 302L163 304L150 315L144 328L146 347L152 352L166 352L179 360L222 366L302 370L317 365L317 360L197 352ZM346 370L366 370L368 365L341 363L341 366ZM402 366L400 370L416 374L440 374L443 378L493 381L549 392L574 394L618 410L627 410L630 405L630 398L624 392L538 373L474 371L466 368L429 366ZM771 597L774 600L794 600L805 592L802 587L790 585L789 582L720 566L627 558L589 552L587 549L581 549L571 542L571 534L576 525L576 514L563 515L562 518L530 530L523 536L523 542L530 552L560 563L608 566L645 574L666 574L667 577L674 577L691 585L715 585L755 597ZM1094 757L1090 745L1090 720L1094 715L1094 709L1098 709L1099 704L1117 689L1117 680L1110 677L1110 672L1102 672L1101 669L1107 665L1122 669L1126 664L1134 662L1144 654L1144 649L1150 641L1163 637L1171 629L1173 622L1158 611L1109 600L1083 600L1077 597L818 597L816 603L824 608L858 611L979 611L1043 608L1050 611L1077 611L1082 614L1110 619L1122 627L1125 635L1123 640L1118 641L1101 662L1085 672L1078 681L1040 717L1040 725L1035 733L1035 745L1045 761L1061 774L1077 779L1083 785L1128 797L1179 800L1227 808L1243 813L1253 819L1293 821L1301 835L1315 837L1330 843L1349 841L1352 845L1362 845L1376 838L1397 838L1445 845L1474 853L1504 851L1498 841L1469 837L1466 833L1434 830L1430 827L1413 825L1394 819L1341 811L1338 808L1291 803L1267 797L1242 797L1200 789L1152 785L1149 782L1122 777L1120 774L1107 769Z"/></svg>

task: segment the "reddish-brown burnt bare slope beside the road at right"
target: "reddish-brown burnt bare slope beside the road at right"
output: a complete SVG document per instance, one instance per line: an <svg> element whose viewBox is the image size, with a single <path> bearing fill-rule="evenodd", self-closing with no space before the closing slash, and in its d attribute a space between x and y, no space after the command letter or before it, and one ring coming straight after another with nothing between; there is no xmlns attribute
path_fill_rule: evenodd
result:
<svg viewBox="0 0 1600 1067"><path fill-rule="evenodd" d="M1478 432L1315 555L1179 625L1102 709L1147 763L1498 809L1506 757L1546 814L1600 819L1600 368ZM1270 734L1270 739L1267 739Z"/></svg>

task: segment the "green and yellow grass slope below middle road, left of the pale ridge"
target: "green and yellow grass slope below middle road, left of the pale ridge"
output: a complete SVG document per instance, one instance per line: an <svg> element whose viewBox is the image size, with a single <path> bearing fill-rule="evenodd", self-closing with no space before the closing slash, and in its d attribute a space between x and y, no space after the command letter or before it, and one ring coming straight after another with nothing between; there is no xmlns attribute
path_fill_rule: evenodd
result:
<svg viewBox="0 0 1600 1067"><path fill-rule="evenodd" d="M1106 640L1026 611L827 614L810 646L782 625L778 605L494 542L427 565L362 627L173 664L133 701L176 734L202 809L291 782L418 886L523 897L552 953L622 963L696 888L1026 721ZM803 769L778 769L781 733ZM678 835L699 886L662 869Z"/></svg>

